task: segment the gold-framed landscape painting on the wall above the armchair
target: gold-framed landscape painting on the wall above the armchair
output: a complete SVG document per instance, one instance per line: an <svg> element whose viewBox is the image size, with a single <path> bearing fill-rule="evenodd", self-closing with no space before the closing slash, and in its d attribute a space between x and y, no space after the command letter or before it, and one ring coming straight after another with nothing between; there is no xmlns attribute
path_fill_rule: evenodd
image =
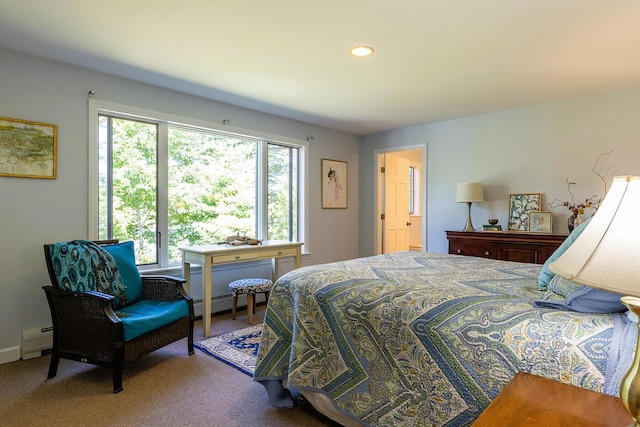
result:
<svg viewBox="0 0 640 427"><path fill-rule="evenodd" d="M56 177L57 126L0 117L0 176Z"/></svg>

